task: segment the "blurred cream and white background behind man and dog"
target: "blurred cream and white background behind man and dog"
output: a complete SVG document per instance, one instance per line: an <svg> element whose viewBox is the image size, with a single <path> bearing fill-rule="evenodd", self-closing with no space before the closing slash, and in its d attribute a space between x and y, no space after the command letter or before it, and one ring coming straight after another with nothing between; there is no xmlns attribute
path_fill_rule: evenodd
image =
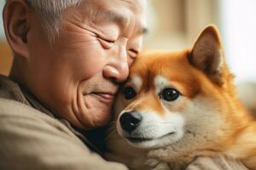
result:
<svg viewBox="0 0 256 170"><path fill-rule="evenodd" d="M0 0L0 11L4 0ZM148 0L149 32L144 48L189 48L209 24L218 26L225 56L236 82L256 82L255 0ZM12 57L0 19L0 73L8 74Z"/></svg>

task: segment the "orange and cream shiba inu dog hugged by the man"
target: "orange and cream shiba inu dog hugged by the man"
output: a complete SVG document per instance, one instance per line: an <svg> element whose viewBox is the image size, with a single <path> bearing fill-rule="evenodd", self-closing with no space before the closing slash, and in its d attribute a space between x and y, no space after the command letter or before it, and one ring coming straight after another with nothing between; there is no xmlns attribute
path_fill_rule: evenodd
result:
<svg viewBox="0 0 256 170"><path fill-rule="evenodd" d="M193 48L141 54L114 113L108 158L131 169L183 169L218 155L256 169L256 122L236 97L215 26Z"/></svg>

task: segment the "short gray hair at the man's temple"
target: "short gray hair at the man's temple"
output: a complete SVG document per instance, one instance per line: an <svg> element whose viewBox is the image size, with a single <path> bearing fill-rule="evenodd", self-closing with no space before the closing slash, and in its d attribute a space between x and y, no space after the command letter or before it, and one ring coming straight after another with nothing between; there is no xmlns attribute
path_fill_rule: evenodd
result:
<svg viewBox="0 0 256 170"><path fill-rule="evenodd" d="M83 0L25 0L29 8L38 14L45 33L54 40L60 29L62 12L78 6Z"/></svg>

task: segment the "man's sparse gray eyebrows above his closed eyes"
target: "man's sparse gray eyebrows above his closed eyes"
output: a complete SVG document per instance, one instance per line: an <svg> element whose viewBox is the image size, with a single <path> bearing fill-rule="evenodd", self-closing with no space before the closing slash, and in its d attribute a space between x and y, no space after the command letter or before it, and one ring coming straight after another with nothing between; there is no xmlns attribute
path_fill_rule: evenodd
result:
<svg viewBox="0 0 256 170"><path fill-rule="evenodd" d="M96 18L104 18L106 19L108 23L116 23L121 27L125 27L126 23L128 22L128 19L125 18L124 15L113 12L113 11L107 11L107 12L102 12L98 11L96 14ZM143 27L141 30L137 31L137 34L147 34L148 33L148 28Z"/></svg>

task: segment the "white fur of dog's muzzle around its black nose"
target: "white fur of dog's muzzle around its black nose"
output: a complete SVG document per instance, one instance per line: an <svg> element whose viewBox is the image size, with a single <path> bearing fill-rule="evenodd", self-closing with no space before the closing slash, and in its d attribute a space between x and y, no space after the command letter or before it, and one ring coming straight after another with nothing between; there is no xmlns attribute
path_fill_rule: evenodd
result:
<svg viewBox="0 0 256 170"><path fill-rule="evenodd" d="M119 117L124 112L122 111ZM121 137L148 139L143 142L132 142L126 139L129 144L140 148L160 147L177 142L183 137L183 116L178 113L168 111L165 117L160 117L150 110L140 113L143 116L143 122L131 134L126 133L120 127L119 121L117 122L117 130Z"/></svg>

